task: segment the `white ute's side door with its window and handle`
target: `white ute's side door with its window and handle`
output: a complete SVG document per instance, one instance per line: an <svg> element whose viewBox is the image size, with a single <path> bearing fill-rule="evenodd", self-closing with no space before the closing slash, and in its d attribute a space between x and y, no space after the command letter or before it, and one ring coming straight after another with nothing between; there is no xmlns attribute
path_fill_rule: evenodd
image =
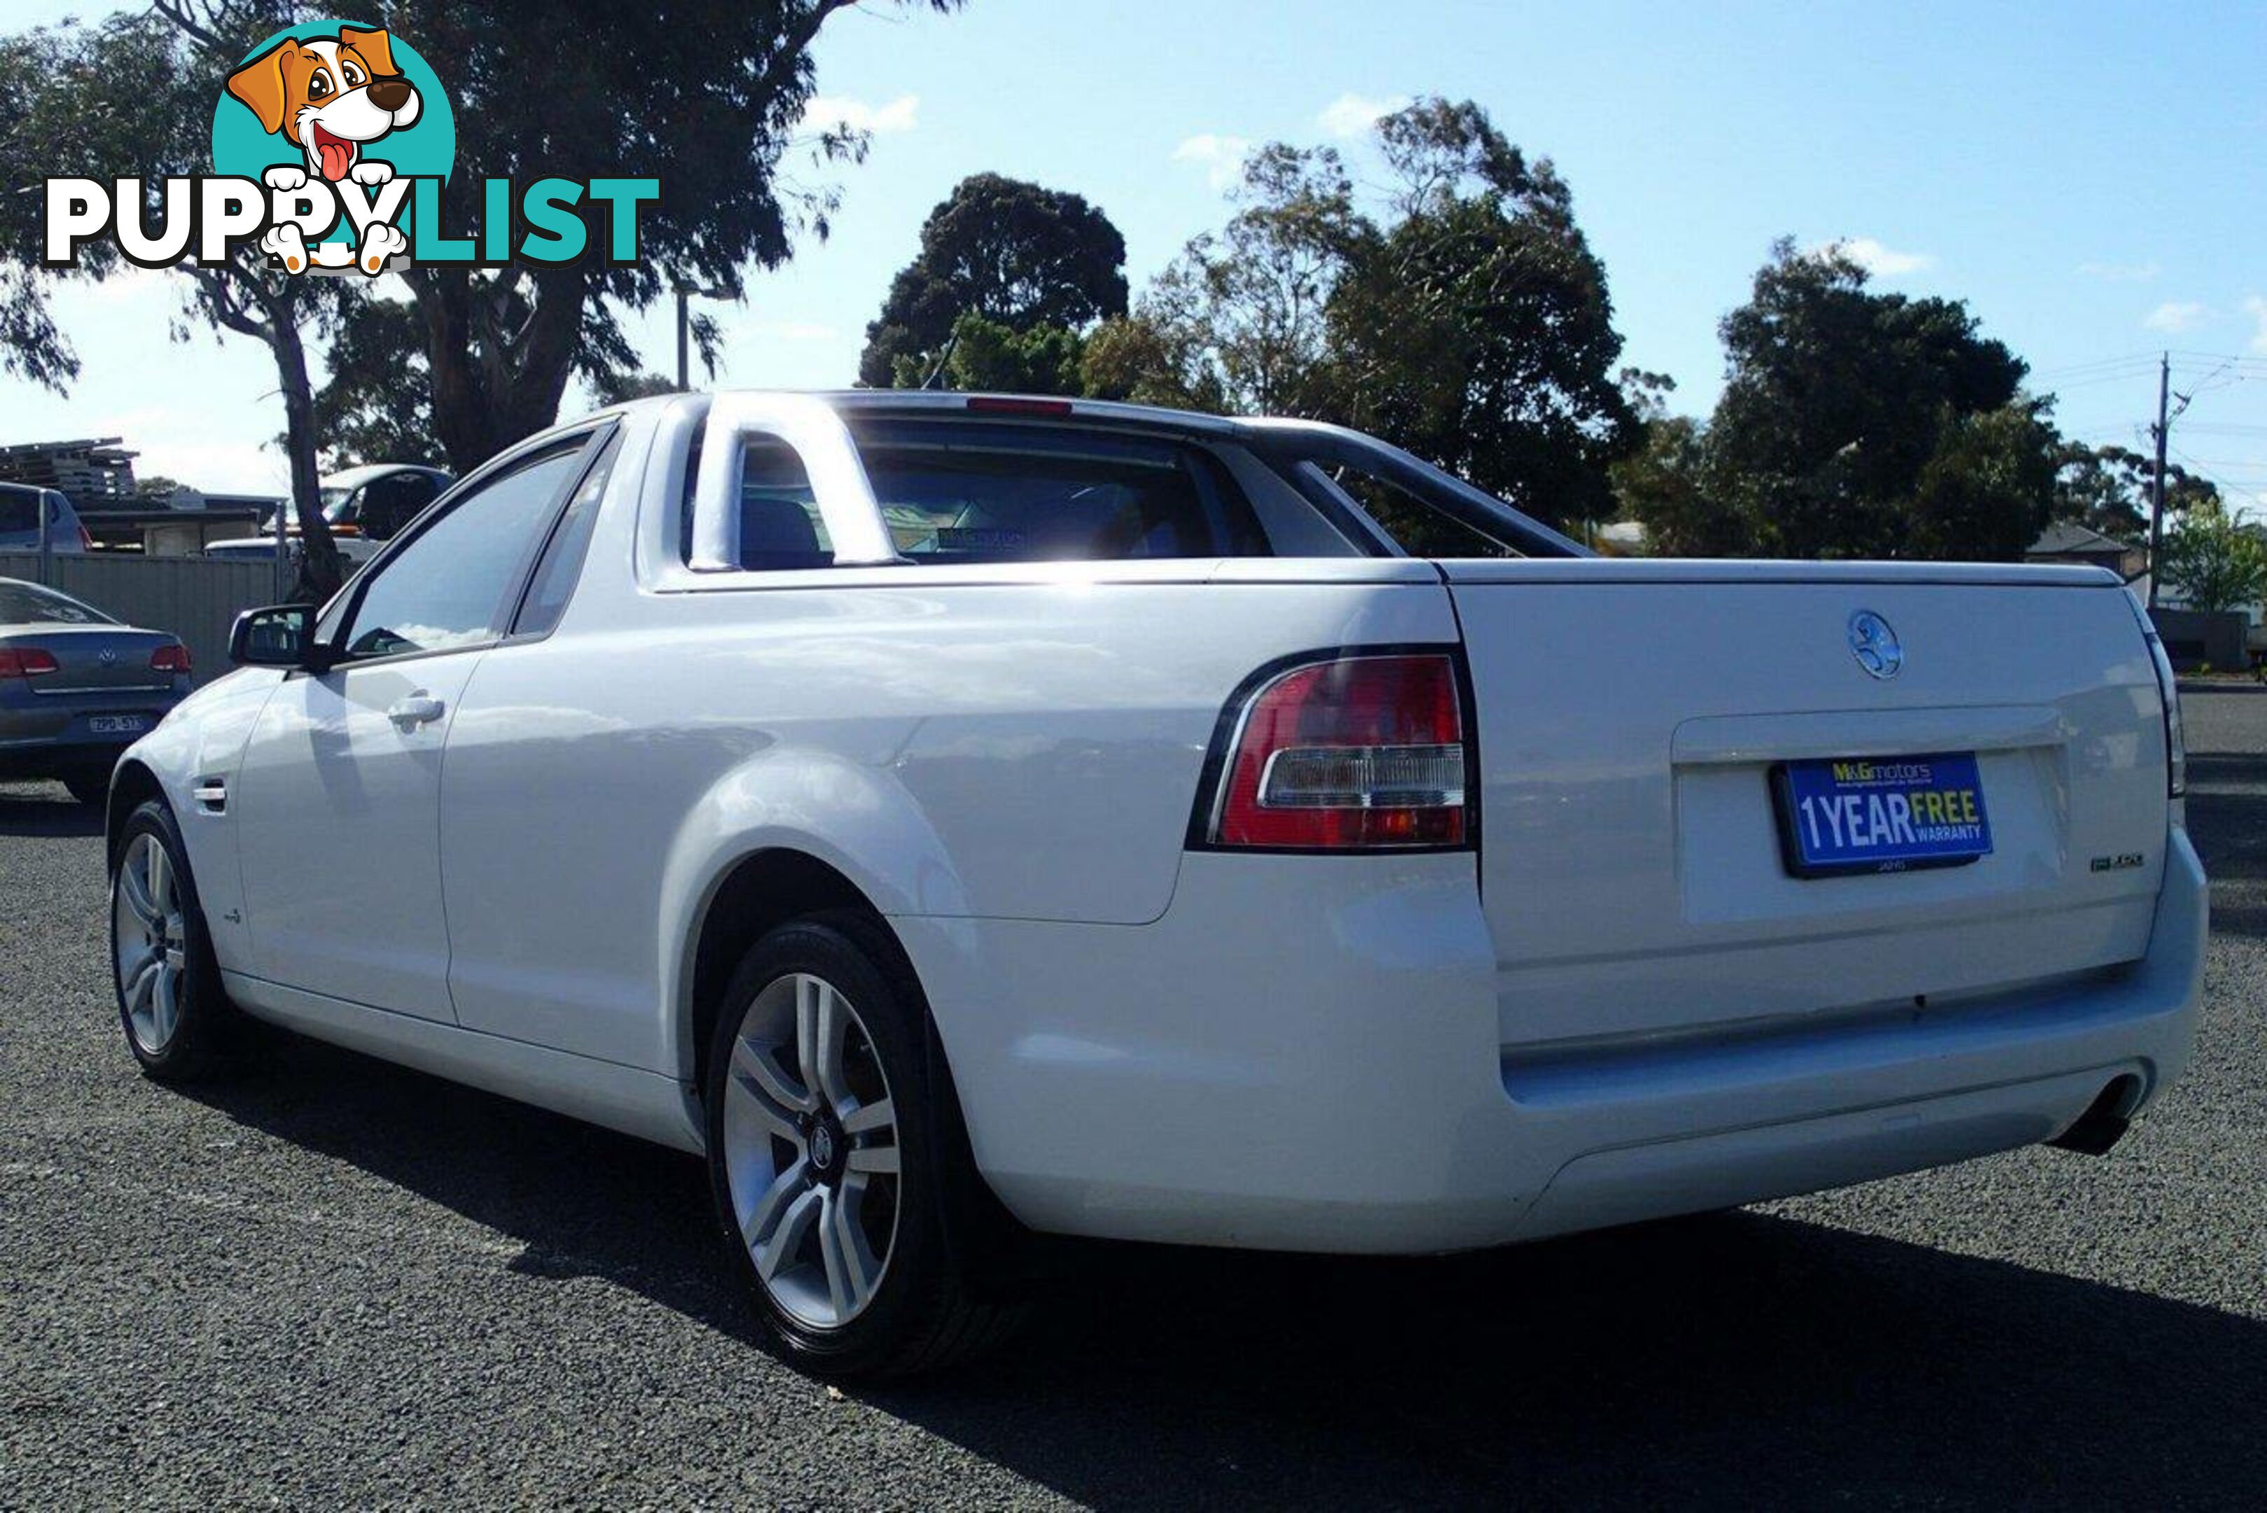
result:
<svg viewBox="0 0 2267 1513"><path fill-rule="evenodd" d="M324 612L336 662L268 701L229 785L261 978L453 1018L442 746L589 438L508 458L422 519Z"/></svg>

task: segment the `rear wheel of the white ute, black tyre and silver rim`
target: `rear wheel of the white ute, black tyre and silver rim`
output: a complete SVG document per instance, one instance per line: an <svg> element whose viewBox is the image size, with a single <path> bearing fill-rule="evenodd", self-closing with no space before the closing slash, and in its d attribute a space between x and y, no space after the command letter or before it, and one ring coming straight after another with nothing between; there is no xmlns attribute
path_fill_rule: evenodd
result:
<svg viewBox="0 0 2267 1513"><path fill-rule="evenodd" d="M735 1266L807 1370L934 1370L1013 1318L970 1293L948 1245L977 1180L932 1066L920 987L859 914L780 925L725 989L703 1089L710 1186Z"/></svg>

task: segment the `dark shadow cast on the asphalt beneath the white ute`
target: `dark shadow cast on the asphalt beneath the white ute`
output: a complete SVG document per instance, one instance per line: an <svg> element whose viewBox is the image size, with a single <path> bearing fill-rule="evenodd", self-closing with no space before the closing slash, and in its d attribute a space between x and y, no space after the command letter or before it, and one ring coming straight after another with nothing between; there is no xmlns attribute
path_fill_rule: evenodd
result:
<svg viewBox="0 0 2267 1513"><path fill-rule="evenodd" d="M297 1039L197 1098L762 1345L689 1157ZM1430 1261L1081 1245L1000 1356L852 1395L1104 1506L2163 1506L2267 1486L2260 1381L2258 1320L1730 1214Z"/></svg>

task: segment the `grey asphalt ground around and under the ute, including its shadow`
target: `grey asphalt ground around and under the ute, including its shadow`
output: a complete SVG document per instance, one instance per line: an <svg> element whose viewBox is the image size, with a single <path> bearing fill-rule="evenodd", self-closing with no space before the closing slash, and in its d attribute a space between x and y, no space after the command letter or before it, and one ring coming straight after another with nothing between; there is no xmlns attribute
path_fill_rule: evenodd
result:
<svg viewBox="0 0 2267 1513"><path fill-rule="evenodd" d="M0 1504L2249 1504L2267 690L2190 696L2188 1082L2027 1150L1453 1261L1097 1248L948 1381L755 1338L701 1168L313 1043L118 1043L100 842L0 789Z"/></svg>

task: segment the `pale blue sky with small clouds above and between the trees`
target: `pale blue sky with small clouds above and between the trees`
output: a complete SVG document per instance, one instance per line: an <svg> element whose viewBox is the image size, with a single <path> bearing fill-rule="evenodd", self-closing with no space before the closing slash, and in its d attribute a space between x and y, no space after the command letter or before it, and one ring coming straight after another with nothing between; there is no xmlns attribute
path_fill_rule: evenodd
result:
<svg viewBox="0 0 2267 1513"><path fill-rule="evenodd" d="M9 25L97 7L16 0ZM413 39L415 41L415 39ZM1721 383L1718 315L1775 236L1852 238L1886 288L1970 302L2061 395L2142 445L2154 354L2194 404L2174 456L2267 506L2267 7L882 0L830 23L821 113L871 125L825 245L719 311L721 383L848 383L923 215L968 172L1084 193L1136 288L1226 215L1238 143L1349 150L1415 93L1546 154L1605 259L1625 361ZM61 168L61 166L59 166ZM122 433L145 472L277 490L263 347L165 340L161 274L70 288L70 399L0 381L0 442ZM637 324L673 365L664 313Z"/></svg>

